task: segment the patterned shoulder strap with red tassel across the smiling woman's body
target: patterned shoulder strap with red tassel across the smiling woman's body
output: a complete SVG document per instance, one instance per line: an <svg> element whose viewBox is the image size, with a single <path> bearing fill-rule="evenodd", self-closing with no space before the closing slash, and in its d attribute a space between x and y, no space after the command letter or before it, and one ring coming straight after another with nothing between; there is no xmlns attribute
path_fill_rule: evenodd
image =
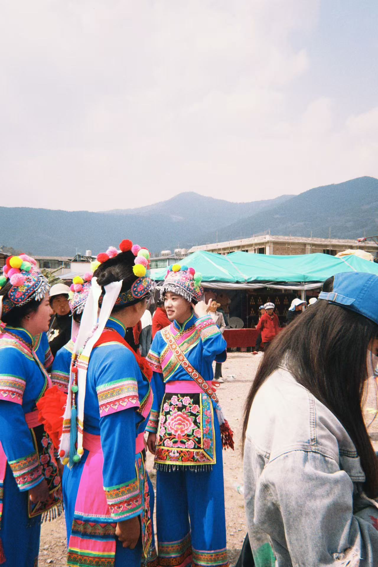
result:
<svg viewBox="0 0 378 567"><path fill-rule="evenodd" d="M190 378L193 378L194 382L198 384L201 390L207 393L207 395L214 401L215 412L216 416L218 417L220 426L222 446L224 449L230 447L233 450L233 431L230 428L230 425L228 425L227 420L223 416L222 408L219 405L218 396L216 396L213 388L211 388L209 384L207 384L206 380L202 378L201 374L199 374L199 372L190 364L188 358L186 358L185 354L180 349L180 346L177 344L175 337L173 337L172 335L171 325L169 325L169 327L165 327L165 329L162 329L162 333L169 349L171 349L172 353L176 357L177 362L179 362L182 368L189 374Z"/></svg>

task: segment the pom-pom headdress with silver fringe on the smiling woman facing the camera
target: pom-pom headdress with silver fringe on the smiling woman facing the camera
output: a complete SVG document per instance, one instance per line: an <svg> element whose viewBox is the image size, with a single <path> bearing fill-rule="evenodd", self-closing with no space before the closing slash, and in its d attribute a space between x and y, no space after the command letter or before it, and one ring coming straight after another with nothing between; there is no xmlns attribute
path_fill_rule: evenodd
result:
<svg viewBox="0 0 378 567"><path fill-rule="evenodd" d="M201 301L203 288L201 286L202 274L196 272L194 268L173 264L169 266L167 276L165 276L164 284L160 290L160 298L164 299L166 291L171 291L177 295L181 295L186 301Z"/></svg>

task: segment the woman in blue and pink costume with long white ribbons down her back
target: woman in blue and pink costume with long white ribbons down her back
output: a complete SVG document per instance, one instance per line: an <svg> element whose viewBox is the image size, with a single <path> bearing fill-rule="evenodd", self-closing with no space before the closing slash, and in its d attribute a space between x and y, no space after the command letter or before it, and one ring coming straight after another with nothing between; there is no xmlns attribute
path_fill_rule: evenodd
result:
<svg viewBox="0 0 378 567"><path fill-rule="evenodd" d="M124 336L141 319L152 282L148 251L137 256L141 249L129 240L120 248L97 257L75 341L60 452L69 465L63 475L68 565L140 567L142 552L151 555L143 433L152 373Z"/></svg>

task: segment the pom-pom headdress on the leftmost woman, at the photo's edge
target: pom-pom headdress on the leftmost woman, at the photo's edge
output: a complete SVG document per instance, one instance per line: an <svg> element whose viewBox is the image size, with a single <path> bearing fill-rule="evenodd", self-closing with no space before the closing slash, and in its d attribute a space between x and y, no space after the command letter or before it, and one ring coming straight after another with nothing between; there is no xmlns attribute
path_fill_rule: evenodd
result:
<svg viewBox="0 0 378 567"><path fill-rule="evenodd" d="M11 288L3 297L0 317L14 307L21 307L32 299L41 301L50 289L49 282L36 267L36 261L31 256L20 254L10 256L3 267L0 277L0 289L8 282Z"/></svg>

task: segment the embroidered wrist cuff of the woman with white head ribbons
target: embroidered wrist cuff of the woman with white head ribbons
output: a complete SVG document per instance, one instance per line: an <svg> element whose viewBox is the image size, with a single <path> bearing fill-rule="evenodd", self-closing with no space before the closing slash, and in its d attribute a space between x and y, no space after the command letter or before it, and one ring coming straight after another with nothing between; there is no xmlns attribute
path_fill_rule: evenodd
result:
<svg viewBox="0 0 378 567"><path fill-rule="evenodd" d="M118 486L104 486L108 506L117 522L122 522L142 513L142 494L139 491L138 479Z"/></svg>

